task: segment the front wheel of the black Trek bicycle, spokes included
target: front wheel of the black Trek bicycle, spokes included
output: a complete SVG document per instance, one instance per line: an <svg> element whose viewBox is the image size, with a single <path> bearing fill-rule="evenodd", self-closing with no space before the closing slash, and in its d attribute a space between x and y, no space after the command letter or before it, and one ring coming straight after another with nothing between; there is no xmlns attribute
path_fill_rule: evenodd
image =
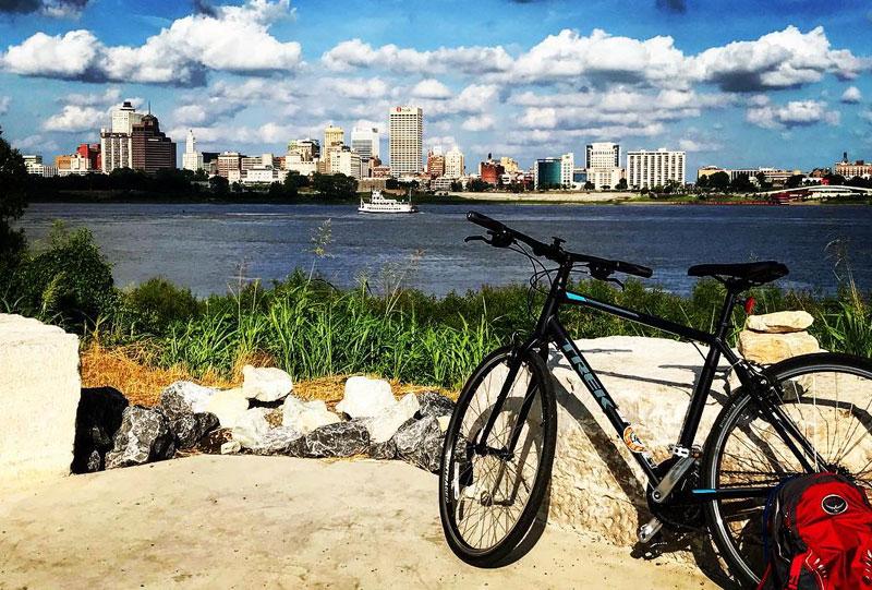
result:
<svg viewBox="0 0 872 590"><path fill-rule="evenodd" d="M497 407L502 390L508 395ZM488 422L493 428L483 440ZM463 387L443 450L439 515L461 559L492 567L521 542L545 496L556 442L545 363L533 351L497 349Z"/></svg>

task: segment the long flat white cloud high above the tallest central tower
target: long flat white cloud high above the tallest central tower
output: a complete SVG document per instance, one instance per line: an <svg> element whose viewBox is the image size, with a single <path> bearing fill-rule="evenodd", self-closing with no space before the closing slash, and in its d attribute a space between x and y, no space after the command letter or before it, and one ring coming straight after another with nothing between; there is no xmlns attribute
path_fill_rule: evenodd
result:
<svg viewBox="0 0 872 590"><path fill-rule="evenodd" d="M373 48L361 39L342 41L322 56L329 70L349 72L355 68L382 68L401 73L462 73L480 75L505 72L511 57L497 47L440 47L433 51L402 49L393 44Z"/></svg>

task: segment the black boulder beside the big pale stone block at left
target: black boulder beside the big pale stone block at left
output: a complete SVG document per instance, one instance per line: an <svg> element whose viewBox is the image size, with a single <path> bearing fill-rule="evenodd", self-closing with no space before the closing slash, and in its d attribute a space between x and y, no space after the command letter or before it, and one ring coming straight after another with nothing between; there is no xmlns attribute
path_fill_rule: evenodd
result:
<svg viewBox="0 0 872 590"><path fill-rule="evenodd" d="M75 414L73 473L99 471L106 466L106 454L112 449L112 437L121 428L124 408L130 405L114 387L83 387Z"/></svg>

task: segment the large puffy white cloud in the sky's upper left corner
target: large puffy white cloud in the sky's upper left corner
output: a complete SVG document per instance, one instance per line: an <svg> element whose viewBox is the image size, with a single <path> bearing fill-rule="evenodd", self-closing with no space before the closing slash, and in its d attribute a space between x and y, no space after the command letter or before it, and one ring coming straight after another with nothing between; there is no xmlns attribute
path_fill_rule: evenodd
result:
<svg viewBox="0 0 872 590"><path fill-rule="evenodd" d="M209 70L289 73L302 65L300 44L279 41L268 28L292 14L289 0L222 5L215 15L178 19L142 46L107 47L88 31L37 33L0 56L0 67L31 76L178 85L202 85Z"/></svg>

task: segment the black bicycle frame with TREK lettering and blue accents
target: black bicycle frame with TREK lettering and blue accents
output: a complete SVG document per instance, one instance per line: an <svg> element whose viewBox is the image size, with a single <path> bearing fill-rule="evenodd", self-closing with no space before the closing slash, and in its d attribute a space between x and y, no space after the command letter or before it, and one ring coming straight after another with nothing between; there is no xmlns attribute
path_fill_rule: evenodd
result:
<svg viewBox="0 0 872 590"><path fill-rule="evenodd" d="M633 458L642 468L647 477L650 485L652 487L656 487L661 482L661 477L656 472L657 465L649 454L644 443L637 436L632 424L630 424L620 414L615 400L611 398L603 383L597 377L596 372L593 370L593 368L591 368L591 365L584 359L582 352L566 333L566 329L561 325L558 317L559 309L561 305L589 308L607 313L609 315L621 317L623 320L629 320L645 326L668 332L682 338L704 344L708 347L708 353L705 357L702 372L694 384L693 393L691 395L687 413L685 414L685 420L682 422L681 432L676 444L677 449L680 449L683 453L690 453L692 451L691 447L697 436L702 413L708 399L708 392L712 383L714 382L715 373L717 372L717 366L720 362L722 356L726 358L729 364L736 370L737 376L739 377L739 381L743 387L754 392L760 390L759 377L761 377L761 374L754 371L753 368L739 358L725 341L727 330L731 327L730 315L737 302L736 293L732 290L727 289L727 296L724 302L724 308L720 312L719 321L717 323L717 329L714 334L710 334L689 326L669 322L662 317L628 310L626 308L620 308L618 305L600 301L592 297L569 291L567 290L567 282L569 280L571 269L571 265L564 265L557 270L557 277L552 284L548 298L542 310L542 314L540 315L536 328L530 338L521 346L520 350L529 351L541 348L542 353L545 354L544 351L547 350L547 345L554 344L556 346L556 348L572 365L579 378L581 378L593 398L596 400L600 409L605 413L606 418L611 423L611 426L615 429L617 435L623 441L625 446L627 446ZM500 407L502 402L505 402L510 386L513 383L519 369L520 361L517 363L510 361L509 374L496 400L497 407ZM532 399L532 396L529 397ZM759 397L761 400L761 410L767 414L767 418L770 418L773 425L779 432L783 438L788 442L791 450L795 453L795 455L797 455L802 465L810 469L808 458L802 454L800 448L795 446L795 443L792 443L790 438L792 437L796 440L799 444L799 447L802 447L806 453L811 453L814 455L815 450L799 433L796 426L789 422L789 420L785 421L785 416L777 405L774 402L765 402L765 395L760 395ZM520 429L525 421L526 413L530 409L530 399L522 405L518 421L516 422L514 430L517 432L513 433L510 447L507 449L489 449L489 451L497 454L513 453L514 443L517 442L518 434L520 433ZM492 411L487 424L482 431L482 436L479 443L482 450L486 448L484 442L487 440L498 413L498 410ZM730 487L724 490L698 489L691 491L691 497L694 502L765 497L767 494L768 489L765 487Z"/></svg>

